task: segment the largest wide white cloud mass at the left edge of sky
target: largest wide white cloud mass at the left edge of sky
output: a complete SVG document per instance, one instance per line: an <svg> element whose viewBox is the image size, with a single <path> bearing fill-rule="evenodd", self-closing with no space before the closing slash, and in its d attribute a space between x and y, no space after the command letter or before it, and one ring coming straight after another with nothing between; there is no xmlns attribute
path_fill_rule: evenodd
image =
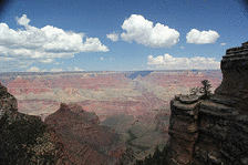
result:
<svg viewBox="0 0 248 165"><path fill-rule="evenodd" d="M55 58L73 58L80 52L106 52L99 38L84 38L83 33L64 31L52 25L30 25L25 14L16 19L24 29L13 30L0 23L0 54L7 58L32 59L51 63Z"/></svg>

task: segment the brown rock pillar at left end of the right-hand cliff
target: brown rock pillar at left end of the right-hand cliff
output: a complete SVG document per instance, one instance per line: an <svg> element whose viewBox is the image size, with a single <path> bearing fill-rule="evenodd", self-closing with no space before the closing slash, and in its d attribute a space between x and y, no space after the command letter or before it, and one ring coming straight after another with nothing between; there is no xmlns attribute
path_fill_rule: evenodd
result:
<svg viewBox="0 0 248 165"><path fill-rule="evenodd" d="M183 100L183 102L182 102ZM172 158L179 164L188 164L198 138L198 99L179 96L170 102L168 134Z"/></svg>

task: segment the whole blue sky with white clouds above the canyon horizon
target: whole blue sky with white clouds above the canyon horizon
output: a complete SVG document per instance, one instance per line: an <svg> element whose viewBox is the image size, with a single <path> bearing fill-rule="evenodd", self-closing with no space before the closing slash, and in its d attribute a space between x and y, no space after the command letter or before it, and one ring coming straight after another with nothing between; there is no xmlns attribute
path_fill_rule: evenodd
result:
<svg viewBox="0 0 248 165"><path fill-rule="evenodd" d="M215 70L248 41L245 0L10 0L0 72Z"/></svg>

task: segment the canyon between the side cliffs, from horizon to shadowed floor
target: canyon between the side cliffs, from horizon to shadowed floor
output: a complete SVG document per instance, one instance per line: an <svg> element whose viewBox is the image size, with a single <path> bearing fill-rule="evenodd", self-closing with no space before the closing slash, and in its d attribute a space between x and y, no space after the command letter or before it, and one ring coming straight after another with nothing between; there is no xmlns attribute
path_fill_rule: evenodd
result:
<svg viewBox="0 0 248 165"><path fill-rule="evenodd" d="M65 148L78 151L70 154L76 164L115 164L121 157L134 164L153 154L167 144L174 95L188 94L203 80L214 91L221 79L220 70L0 74L18 111L56 127Z"/></svg>

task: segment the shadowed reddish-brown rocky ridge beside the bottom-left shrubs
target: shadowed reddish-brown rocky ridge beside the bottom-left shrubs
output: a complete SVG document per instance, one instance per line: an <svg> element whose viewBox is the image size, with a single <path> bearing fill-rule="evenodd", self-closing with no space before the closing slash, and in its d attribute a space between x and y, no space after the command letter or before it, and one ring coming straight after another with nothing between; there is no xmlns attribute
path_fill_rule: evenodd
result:
<svg viewBox="0 0 248 165"><path fill-rule="evenodd" d="M73 103L61 103L61 107L45 118L64 145L71 164L117 164L125 144L114 131L99 125L99 117Z"/></svg>

